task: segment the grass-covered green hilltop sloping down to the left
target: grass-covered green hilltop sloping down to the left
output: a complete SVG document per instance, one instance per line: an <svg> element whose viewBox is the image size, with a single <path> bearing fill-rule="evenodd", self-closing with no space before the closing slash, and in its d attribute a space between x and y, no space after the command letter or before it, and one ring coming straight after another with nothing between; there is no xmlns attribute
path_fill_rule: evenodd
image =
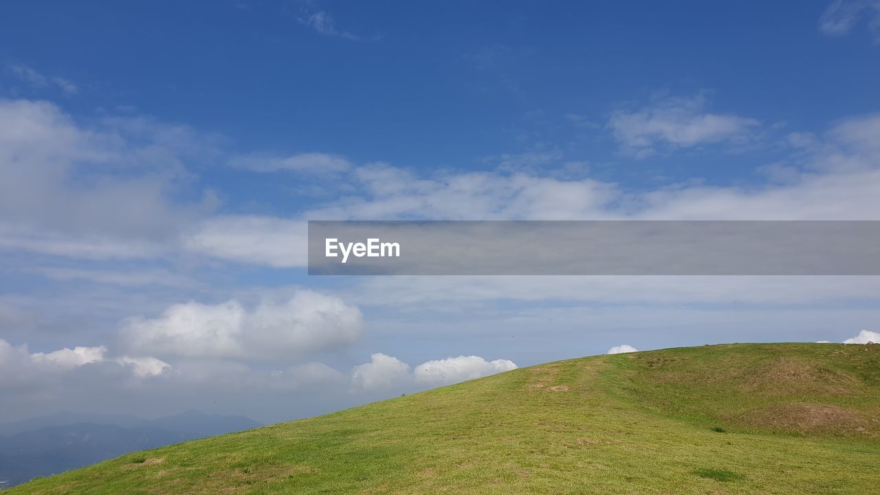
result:
<svg viewBox="0 0 880 495"><path fill-rule="evenodd" d="M876 494L880 345L571 359L41 478L26 493Z"/></svg>

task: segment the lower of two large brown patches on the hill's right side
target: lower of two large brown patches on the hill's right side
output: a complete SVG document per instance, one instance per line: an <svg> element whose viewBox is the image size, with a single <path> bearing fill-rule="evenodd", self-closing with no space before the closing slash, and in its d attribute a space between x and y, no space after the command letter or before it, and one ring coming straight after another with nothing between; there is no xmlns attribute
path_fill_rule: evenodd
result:
<svg viewBox="0 0 880 495"><path fill-rule="evenodd" d="M766 406L747 412L742 421L746 425L766 427L789 432L836 432L842 434L871 432L869 422L857 413L837 406L816 403L787 403ZM859 428L862 428L860 431Z"/></svg>

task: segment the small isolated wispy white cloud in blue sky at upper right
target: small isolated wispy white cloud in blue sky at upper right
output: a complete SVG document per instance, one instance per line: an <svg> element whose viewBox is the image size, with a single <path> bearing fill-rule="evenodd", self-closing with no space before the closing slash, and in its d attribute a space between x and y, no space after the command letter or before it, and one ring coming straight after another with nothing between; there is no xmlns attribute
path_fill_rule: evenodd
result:
<svg viewBox="0 0 880 495"><path fill-rule="evenodd" d="M608 122L623 149L637 158L658 148L689 148L698 144L743 144L750 140L755 119L710 114L703 95L693 99L656 100L636 111L615 112Z"/></svg>

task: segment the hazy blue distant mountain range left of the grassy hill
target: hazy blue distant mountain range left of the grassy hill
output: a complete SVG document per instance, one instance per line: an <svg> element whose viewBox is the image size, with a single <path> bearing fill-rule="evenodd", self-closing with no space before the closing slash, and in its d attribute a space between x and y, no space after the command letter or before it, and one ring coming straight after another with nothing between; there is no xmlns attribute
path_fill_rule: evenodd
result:
<svg viewBox="0 0 880 495"><path fill-rule="evenodd" d="M145 420L62 412L0 424L0 489L121 454L262 426L249 417L196 410Z"/></svg>

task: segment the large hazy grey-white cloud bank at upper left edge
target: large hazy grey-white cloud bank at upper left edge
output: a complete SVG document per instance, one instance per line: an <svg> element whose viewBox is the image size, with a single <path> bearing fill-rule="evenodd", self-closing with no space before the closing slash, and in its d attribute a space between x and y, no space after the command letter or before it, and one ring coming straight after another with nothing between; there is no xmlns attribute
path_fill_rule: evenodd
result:
<svg viewBox="0 0 880 495"><path fill-rule="evenodd" d="M92 128L44 101L0 99L0 248L141 257L165 251L213 202L176 203L194 133L139 119ZM136 144L135 144L136 143Z"/></svg>

